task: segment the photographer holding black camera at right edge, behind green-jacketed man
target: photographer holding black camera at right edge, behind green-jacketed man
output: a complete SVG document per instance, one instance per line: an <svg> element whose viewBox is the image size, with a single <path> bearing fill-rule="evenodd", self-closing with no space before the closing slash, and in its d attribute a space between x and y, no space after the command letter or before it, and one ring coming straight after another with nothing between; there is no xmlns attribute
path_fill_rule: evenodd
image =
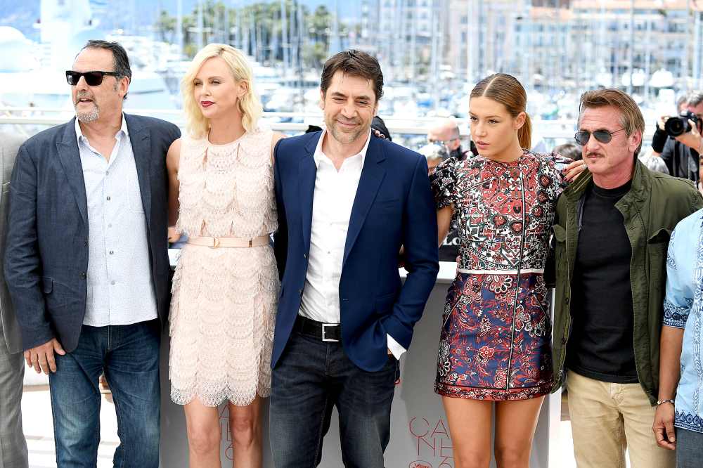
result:
<svg viewBox="0 0 703 468"><path fill-rule="evenodd" d="M698 183L698 160L703 144L703 92L692 93L687 100L688 105L681 115L659 119L652 148L661 153L669 174Z"/></svg>

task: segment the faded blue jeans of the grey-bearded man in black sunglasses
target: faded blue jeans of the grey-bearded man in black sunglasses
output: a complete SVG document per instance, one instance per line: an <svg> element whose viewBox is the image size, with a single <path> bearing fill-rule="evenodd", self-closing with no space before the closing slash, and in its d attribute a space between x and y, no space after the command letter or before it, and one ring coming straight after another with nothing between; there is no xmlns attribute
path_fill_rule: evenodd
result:
<svg viewBox="0 0 703 468"><path fill-rule="evenodd" d="M49 374L49 384L58 467L96 466L101 372L117 412L120 445L113 466L159 466L159 343L157 320L83 325L77 348L65 356L56 355L56 373Z"/></svg>

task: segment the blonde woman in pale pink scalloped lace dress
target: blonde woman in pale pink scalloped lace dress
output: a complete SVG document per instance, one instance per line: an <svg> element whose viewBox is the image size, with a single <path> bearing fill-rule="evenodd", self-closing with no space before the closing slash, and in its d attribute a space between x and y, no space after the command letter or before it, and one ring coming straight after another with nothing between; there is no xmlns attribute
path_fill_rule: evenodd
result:
<svg viewBox="0 0 703 468"><path fill-rule="evenodd" d="M278 273L273 151L252 71L209 44L181 82L188 132L169 148L169 224L188 235L173 281L171 398L186 412L191 467L219 467L217 406L228 402L233 464L262 465ZM177 221L176 221L177 219Z"/></svg>

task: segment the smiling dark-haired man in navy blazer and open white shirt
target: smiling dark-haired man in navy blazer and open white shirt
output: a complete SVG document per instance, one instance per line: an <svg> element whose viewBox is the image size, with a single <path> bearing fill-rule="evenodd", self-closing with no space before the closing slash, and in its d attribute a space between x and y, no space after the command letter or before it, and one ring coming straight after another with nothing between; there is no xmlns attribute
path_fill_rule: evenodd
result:
<svg viewBox="0 0 703 468"><path fill-rule="evenodd" d="M337 53L321 79L326 130L276 145L277 468L320 462L335 406L345 466L383 466L398 358L439 271L425 158L370 135L382 86L375 58Z"/></svg>

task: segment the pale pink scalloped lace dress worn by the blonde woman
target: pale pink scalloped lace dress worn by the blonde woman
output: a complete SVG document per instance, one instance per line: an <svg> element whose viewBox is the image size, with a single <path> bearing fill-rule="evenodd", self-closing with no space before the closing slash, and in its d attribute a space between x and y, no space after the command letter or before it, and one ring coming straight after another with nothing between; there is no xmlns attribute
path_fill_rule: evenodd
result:
<svg viewBox="0 0 703 468"><path fill-rule="evenodd" d="M255 238L278 227L271 131L226 145L183 136L177 229L188 236ZM184 405L248 405L271 389L278 298L273 249L186 245L172 287L171 398Z"/></svg>

